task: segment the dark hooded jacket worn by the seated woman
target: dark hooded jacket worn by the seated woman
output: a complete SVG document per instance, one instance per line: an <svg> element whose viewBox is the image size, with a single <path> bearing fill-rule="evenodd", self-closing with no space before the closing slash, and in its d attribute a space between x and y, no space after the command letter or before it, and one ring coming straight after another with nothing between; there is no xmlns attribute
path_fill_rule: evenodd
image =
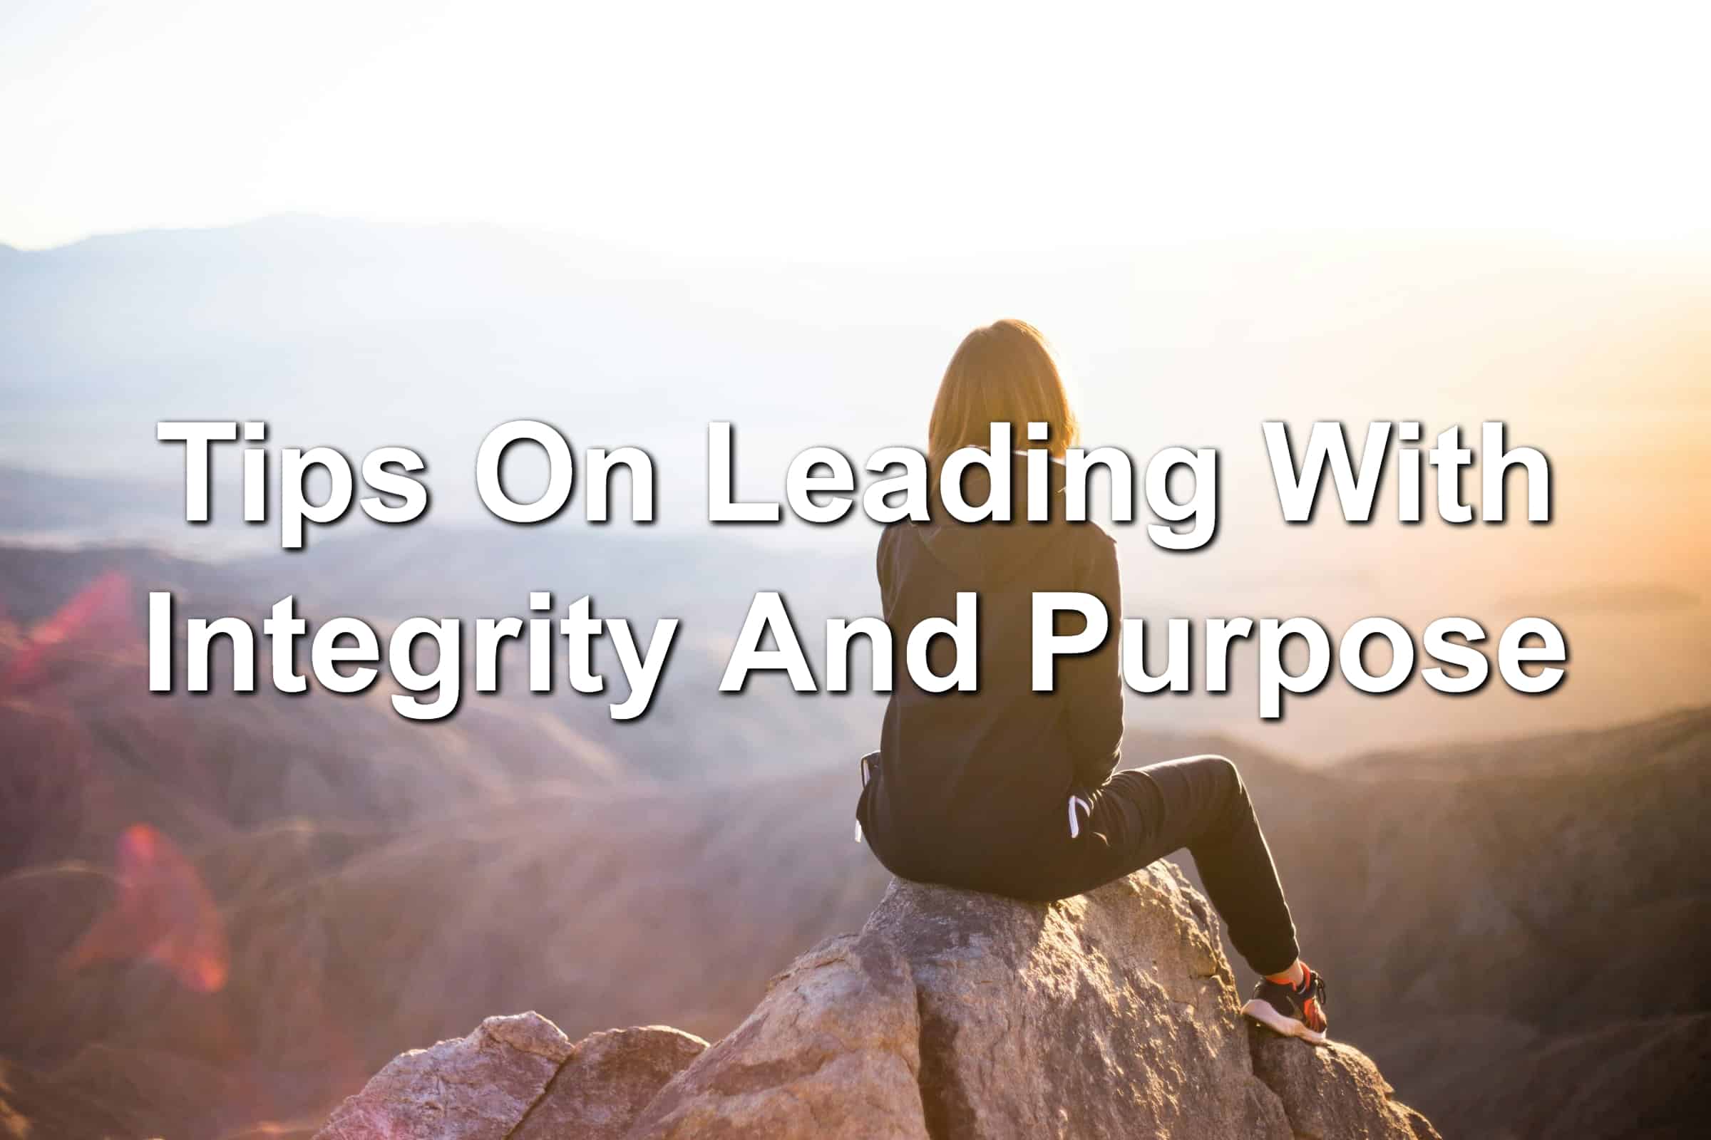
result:
<svg viewBox="0 0 1711 1140"><path fill-rule="evenodd" d="M1013 521L960 523L943 508L931 523L893 523L879 538L879 593L897 644L895 685L879 762L857 819L874 855L905 879L1028 894L1069 843L1066 805L1100 786L1122 743L1117 550L1097 523L1064 520L1063 467L1051 465L1051 521L1027 521L1025 463L1011 468ZM986 497L972 468L965 497ZM909 677L903 646L927 617L956 615L956 593L979 598L974 692L926 692ZM1032 603L1037 591L1098 596L1110 627L1095 653L1059 656L1051 692L1032 690ZM1083 629L1057 617L1059 634ZM929 646L932 672L953 663L950 638ZM1035 867L1037 865L1037 867ZM1042 896L1052 890L1042 882Z"/></svg>

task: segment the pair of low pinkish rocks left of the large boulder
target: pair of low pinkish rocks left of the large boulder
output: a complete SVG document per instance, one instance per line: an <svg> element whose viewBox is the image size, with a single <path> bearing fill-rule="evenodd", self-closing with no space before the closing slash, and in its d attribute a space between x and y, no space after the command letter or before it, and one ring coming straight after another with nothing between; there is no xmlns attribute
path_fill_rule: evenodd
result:
<svg viewBox="0 0 1711 1140"><path fill-rule="evenodd" d="M664 1025L571 1044L539 1014L489 1017L467 1037L395 1056L315 1140L623 1137L636 1111L705 1048Z"/></svg>

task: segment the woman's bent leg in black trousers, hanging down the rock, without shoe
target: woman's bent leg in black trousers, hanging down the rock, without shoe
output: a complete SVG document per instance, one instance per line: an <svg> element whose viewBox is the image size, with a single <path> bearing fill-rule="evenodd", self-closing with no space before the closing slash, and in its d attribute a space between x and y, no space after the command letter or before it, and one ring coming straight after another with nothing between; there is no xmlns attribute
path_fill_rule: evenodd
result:
<svg viewBox="0 0 1711 1140"><path fill-rule="evenodd" d="M1088 822L1104 841L1095 861L1114 867L1104 880L1187 848L1230 943L1254 973L1282 974L1295 964L1295 923L1235 764L1191 755L1128 769L1092 798Z"/></svg>

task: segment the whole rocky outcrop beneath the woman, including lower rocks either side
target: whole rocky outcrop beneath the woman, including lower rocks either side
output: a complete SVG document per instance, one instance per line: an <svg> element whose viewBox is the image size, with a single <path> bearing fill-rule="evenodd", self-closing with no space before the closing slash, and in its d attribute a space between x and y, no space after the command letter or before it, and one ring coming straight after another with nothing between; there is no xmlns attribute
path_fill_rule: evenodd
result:
<svg viewBox="0 0 1711 1140"><path fill-rule="evenodd" d="M631 1034L638 1034L630 1037ZM406 1053L325 1140L1271 1137L1425 1140L1359 1051L1247 1025L1217 916L1169 863L1064 902L893 882L702 1051L575 1046L536 1015Z"/></svg>

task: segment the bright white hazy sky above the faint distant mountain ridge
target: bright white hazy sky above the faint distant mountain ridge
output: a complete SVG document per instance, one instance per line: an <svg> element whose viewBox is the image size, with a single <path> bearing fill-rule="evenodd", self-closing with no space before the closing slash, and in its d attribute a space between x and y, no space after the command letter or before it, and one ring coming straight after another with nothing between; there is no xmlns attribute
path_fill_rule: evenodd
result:
<svg viewBox="0 0 1711 1140"><path fill-rule="evenodd" d="M796 256L1699 241L1697 7L0 0L0 241L287 210Z"/></svg>

